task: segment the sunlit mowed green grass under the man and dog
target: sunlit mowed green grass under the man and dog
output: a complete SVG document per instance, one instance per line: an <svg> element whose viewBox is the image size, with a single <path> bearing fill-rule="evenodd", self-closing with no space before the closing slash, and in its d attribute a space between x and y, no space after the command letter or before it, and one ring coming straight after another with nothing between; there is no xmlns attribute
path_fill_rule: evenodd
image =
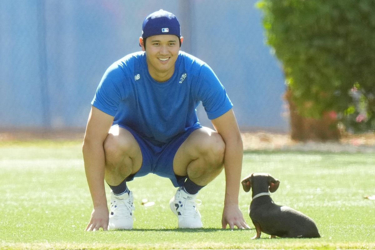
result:
<svg viewBox="0 0 375 250"><path fill-rule="evenodd" d="M240 208L251 229L221 229L224 172L199 193L202 229L177 229L169 210L175 188L149 174L128 184L133 230L85 232L92 201L81 142L0 142L0 249L375 249L375 201L363 198L375 195L373 154L248 151L243 159L242 177L278 178L275 203L314 219L322 237L251 240L251 193L242 189Z"/></svg>

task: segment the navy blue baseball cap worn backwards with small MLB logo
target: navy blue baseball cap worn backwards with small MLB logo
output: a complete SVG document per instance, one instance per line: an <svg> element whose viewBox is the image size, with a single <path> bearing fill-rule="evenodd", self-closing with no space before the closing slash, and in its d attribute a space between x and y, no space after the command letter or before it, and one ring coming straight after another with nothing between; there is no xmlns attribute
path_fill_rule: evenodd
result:
<svg viewBox="0 0 375 250"><path fill-rule="evenodd" d="M181 37L180 23L175 15L161 9L146 16L142 24L142 38L168 34Z"/></svg>

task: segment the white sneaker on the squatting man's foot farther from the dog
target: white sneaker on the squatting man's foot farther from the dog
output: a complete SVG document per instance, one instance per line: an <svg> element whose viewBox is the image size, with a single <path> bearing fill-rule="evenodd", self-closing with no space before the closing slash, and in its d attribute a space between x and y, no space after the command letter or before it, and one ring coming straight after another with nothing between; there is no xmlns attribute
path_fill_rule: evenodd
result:
<svg viewBox="0 0 375 250"><path fill-rule="evenodd" d="M110 220L108 229L132 229L133 228L133 193L115 195L111 191Z"/></svg>

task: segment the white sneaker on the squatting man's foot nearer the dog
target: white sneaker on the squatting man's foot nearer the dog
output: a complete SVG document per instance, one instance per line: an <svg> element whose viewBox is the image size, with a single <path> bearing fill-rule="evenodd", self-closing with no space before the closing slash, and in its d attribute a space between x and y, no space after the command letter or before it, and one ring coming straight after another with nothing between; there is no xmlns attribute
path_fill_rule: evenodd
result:
<svg viewBox="0 0 375 250"><path fill-rule="evenodd" d="M169 201L169 207L178 218L178 228L201 228L203 226L201 214L196 207L201 204L201 201L195 198L196 194L190 195L180 187Z"/></svg>

